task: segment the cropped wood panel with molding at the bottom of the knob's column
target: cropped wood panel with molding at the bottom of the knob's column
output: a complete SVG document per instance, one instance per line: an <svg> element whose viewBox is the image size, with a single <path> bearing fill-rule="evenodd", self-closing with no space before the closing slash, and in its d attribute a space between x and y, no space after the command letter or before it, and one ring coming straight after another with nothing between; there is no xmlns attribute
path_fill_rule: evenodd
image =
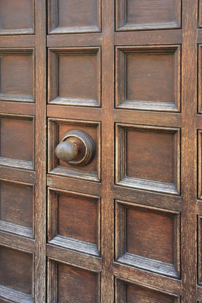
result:
<svg viewBox="0 0 202 303"><path fill-rule="evenodd" d="M48 303L99 303L100 274L48 260Z"/></svg>

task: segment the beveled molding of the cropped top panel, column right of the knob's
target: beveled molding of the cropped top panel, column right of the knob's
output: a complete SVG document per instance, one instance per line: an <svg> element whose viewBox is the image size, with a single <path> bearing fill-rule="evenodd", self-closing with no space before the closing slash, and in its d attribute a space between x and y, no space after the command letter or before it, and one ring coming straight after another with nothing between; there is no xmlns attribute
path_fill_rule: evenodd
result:
<svg viewBox="0 0 202 303"><path fill-rule="evenodd" d="M174 0L174 21L157 23L127 23L127 0L116 0L116 31L139 31L181 28L181 0Z"/></svg>

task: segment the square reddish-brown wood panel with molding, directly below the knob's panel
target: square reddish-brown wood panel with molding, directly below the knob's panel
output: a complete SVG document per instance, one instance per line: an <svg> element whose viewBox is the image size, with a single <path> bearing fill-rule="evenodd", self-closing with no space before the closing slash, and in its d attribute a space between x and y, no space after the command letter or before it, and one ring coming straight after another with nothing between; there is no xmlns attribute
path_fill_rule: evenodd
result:
<svg viewBox="0 0 202 303"><path fill-rule="evenodd" d="M50 243L99 255L99 197L49 188L48 218Z"/></svg>

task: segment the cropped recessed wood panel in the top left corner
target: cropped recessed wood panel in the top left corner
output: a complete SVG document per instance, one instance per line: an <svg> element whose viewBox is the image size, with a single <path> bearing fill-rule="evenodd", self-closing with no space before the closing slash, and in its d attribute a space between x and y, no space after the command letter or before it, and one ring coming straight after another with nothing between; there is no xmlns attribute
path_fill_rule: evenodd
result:
<svg viewBox="0 0 202 303"><path fill-rule="evenodd" d="M31 34L34 26L34 0L0 1L0 34Z"/></svg>

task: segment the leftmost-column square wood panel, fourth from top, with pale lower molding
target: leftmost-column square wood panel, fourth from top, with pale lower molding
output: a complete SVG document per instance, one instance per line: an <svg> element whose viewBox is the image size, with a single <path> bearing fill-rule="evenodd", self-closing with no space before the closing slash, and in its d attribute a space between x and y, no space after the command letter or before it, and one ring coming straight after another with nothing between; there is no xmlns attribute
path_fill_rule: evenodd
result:
<svg viewBox="0 0 202 303"><path fill-rule="evenodd" d="M0 180L0 230L34 236L34 187Z"/></svg>

